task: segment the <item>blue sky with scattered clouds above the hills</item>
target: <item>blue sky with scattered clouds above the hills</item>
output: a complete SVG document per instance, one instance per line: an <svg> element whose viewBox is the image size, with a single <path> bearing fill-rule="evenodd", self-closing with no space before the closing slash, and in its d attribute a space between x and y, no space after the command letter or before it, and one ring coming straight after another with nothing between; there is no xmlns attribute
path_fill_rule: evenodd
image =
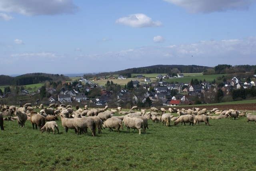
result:
<svg viewBox="0 0 256 171"><path fill-rule="evenodd" d="M256 64L256 0L0 0L0 74Z"/></svg>

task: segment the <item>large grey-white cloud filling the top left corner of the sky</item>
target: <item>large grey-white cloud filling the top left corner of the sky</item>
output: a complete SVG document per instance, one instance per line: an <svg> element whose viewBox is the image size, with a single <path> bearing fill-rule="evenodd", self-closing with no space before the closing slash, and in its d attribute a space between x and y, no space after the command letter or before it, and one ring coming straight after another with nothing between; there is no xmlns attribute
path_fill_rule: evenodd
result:
<svg viewBox="0 0 256 171"><path fill-rule="evenodd" d="M0 11L26 16L74 13L77 7L72 0L1 0Z"/></svg>

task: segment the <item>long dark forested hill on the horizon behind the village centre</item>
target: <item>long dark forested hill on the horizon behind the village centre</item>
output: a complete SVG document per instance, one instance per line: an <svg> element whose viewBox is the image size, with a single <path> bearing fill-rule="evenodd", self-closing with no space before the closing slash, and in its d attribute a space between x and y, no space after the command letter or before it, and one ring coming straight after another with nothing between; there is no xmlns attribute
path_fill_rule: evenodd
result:
<svg viewBox="0 0 256 171"><path fill-rule="evenodd" d="M126 76L127 74L171 74L171 73L198 73L204 72L209 69L207 66L196 66L196 65L155 65L146 66L140 68L129 68L126 70L120 70L116 72L103 72L99 74L91 74L93 76L108 76L113 74L120 74Z"/></svg>

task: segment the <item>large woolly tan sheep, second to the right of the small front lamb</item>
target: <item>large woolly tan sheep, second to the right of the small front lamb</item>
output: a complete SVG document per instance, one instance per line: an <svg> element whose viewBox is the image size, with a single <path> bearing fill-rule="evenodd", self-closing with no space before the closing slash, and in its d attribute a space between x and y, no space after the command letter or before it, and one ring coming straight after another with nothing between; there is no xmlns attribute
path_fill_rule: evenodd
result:
<svg viewBox="0 0 256 171"><path fill-rule="evenodd" d="M92 131L92 136L96 135L96 123L94 122L94 119L90 117L74 118L74 126L78 135L84 130L87 133L87 128Z"/></svg>

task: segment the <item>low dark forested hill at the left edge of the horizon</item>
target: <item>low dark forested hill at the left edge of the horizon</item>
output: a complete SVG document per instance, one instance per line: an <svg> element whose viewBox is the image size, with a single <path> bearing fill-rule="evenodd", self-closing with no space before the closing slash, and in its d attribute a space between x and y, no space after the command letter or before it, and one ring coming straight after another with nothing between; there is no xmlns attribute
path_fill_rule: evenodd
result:
<svg viewBox="0 0 256 171"><path fill-rule="evenodd" d="M0 75L0 85L28 85L45 81L68 80L69 78L59 74L31 73L17 77Z"/></svg>

